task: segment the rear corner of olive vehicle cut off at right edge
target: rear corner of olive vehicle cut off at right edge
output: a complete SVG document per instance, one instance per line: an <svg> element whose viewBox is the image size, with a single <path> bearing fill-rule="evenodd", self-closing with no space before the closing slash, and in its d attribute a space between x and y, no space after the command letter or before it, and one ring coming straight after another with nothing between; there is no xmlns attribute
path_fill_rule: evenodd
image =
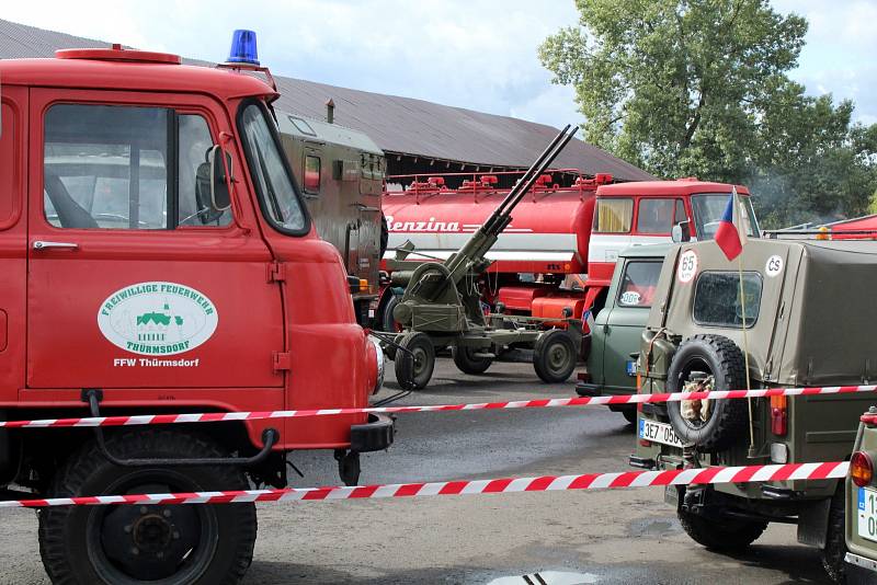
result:
<svg viewBox="0 0 877 585"><path fill-rule="evenodd" d="M872 398L875 401L875 398ZM862 415L850 474L846 478L845 532L846 582L877 583L877 478L874 460L877 458L877 406Z"/></svg>

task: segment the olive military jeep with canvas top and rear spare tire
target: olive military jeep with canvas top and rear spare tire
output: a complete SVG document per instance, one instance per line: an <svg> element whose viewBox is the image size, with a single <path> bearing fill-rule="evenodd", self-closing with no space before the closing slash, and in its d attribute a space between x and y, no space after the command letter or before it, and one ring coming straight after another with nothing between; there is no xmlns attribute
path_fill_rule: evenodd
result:
<svg viewBox="0 0 877 585"><path fill-rule="evenodd" d="M638 372L641 392L867 383L877 372L877 249L870 242L750 240L738 262L715 242L664 261ZM748 353L748 360L743 352ZM680 469L840 461L874 397L819 394L643 404L634 467ZM751 409L751 410L750 410ZM797 525L840 578L836 480L671 487L685 531L715 550L749 546L767 523Z"/></svg>

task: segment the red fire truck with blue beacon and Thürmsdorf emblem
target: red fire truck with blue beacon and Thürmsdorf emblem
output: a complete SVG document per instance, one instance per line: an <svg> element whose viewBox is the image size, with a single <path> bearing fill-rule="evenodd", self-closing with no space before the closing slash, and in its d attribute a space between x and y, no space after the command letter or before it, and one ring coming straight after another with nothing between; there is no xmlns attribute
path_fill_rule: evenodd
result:
<svg viewBox="0 0 877 585"><path fill-rule="evenodd" d="M270 73L61 50L0 61L0 416L366 406L381 356L283 156ZM269 83L251 70L266 74ZM286 484L286 452L386 448L365 415L0 432L7 497ZM18 490L18 494L14 490ZM54 507L55 583L237 583L252 504Z"/></svg>

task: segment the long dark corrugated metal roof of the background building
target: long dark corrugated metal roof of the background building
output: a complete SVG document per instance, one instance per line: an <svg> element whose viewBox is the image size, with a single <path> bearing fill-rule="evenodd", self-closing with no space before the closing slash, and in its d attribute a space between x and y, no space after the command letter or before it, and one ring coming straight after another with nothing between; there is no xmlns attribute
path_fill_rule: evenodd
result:
<svg viewBox="0 0 877 585"><path fill-rule="evenodd" d="M105 47L109 43L0 20L0 58L53 57L59 48ZM187 60L192 64L204 61ZM323 118L334 100L335 122L367 134L388 152L493 167L528 167L557 129L509 116L475 112L367 91L275 76L277 107ZM612 173L625 181L654 179L608 152L573 139L554 167L588 174Z"/></svg>

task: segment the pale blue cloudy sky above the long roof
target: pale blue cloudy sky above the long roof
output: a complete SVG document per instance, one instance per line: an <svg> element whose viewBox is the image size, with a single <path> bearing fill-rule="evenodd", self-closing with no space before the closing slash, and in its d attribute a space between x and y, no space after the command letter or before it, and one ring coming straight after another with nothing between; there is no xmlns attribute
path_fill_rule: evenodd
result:
<svg viewBox="0 0 877 585"><path fill-rule="evenodd" d="M810 22L793 76L877 122L877 0L773 3ZM5 2L0 18L214 61L234 28L252 28L262 62L284 76L558 127L581 121L572 90L551 85L536 58L548 34L576 23L572 0L43 0Z"/></svg>

